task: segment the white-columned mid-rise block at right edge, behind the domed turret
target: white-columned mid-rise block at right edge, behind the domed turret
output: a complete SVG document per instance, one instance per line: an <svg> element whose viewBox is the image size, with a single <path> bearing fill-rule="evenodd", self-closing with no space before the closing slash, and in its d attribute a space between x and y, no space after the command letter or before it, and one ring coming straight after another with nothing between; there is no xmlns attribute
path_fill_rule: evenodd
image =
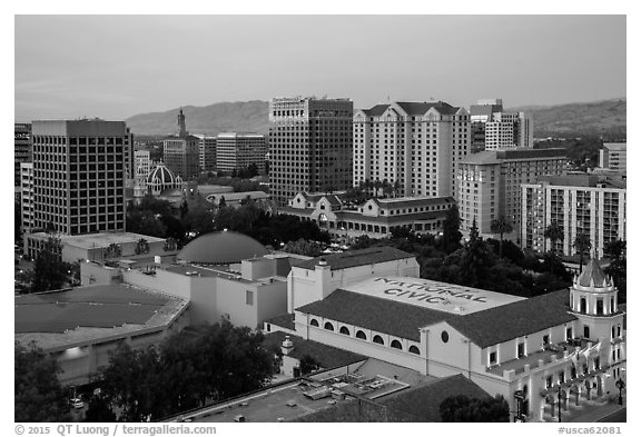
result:
<svg viewBox="0 0 641 437"><path fill-rule="evenodd" d="M578 235L590 237L592 249L603 257L608 242L627 239L627 189L623 181L600 180L596 176L569 175L543 177L536 183L524 183L522 190L521 246L544 252L551 249L574 255ZM544 237L545 229L556 224L563 239L555 242Z"/></svg>

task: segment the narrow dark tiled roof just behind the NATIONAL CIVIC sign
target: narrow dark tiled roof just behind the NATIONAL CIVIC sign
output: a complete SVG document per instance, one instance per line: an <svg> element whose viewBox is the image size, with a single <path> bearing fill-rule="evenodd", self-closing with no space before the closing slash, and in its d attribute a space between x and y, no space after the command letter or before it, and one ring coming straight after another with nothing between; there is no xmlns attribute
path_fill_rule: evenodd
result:
<svg viewBox="0 0 641 437"><path fill-rule="evenodd" d="M396 259L405 258L414 258L414 255L385 246L362 250L351 250L341 254L324 255L305 261L297 267L314 270L319 261L325 260L332 270L341 270L351 267L394 261Z"/></svg>

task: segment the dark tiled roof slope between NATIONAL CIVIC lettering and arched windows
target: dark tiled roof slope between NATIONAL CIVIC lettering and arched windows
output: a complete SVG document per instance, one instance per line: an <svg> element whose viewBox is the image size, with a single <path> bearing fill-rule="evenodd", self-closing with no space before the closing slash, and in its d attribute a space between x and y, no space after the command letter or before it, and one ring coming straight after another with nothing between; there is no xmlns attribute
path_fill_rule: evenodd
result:
<svg viewBox="0 0 641 437"><path fill-rule="evenodd" d="M415 341L421 341L418 328L461 317L342 289L296 310Z"/></svg>

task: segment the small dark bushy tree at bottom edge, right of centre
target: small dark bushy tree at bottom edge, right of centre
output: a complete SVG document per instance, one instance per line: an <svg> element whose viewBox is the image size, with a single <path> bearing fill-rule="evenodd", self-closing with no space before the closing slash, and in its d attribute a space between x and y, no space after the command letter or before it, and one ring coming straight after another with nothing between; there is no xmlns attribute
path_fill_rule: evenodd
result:
<svg viewBox="0 0 641 437"><path fill-rule="evenodd" d="M503 396L471 399L467 396L451 396L438 407L443 421L496 423L510 421L510 406Z"/></svg>

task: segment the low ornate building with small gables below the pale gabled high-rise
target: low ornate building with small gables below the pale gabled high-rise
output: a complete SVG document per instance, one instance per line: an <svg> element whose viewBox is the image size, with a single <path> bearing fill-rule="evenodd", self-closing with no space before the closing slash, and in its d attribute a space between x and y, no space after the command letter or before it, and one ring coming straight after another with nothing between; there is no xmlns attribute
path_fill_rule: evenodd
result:
<svg viewBox="0 0 641 437"><path fill-rule="evenodd" d="M447 210L454 205L452 197L401 197L369 199L351 207L341 195L299 192L279 212L312 220L335 239L347 242L363 235L387 238L400 229L437 235L443 230Z"/></svg>

